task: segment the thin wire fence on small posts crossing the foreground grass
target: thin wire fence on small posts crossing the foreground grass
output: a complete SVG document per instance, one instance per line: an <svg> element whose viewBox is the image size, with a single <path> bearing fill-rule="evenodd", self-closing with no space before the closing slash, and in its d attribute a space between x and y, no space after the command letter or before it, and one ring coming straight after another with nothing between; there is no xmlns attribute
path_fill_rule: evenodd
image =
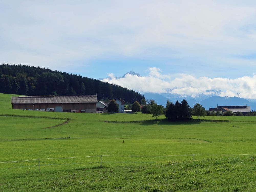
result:
<svg viewBox="0 0 256 192"><path fill-rule="evenodd" d="M42 166L57 166L57 165L78 165L78 164L93 164L97 166L102 166L104 164L114 164L114 163L124 163L124 164L134 164L134 163L167 163L167 162L185 162L185 161L200 161L199 156L248 156L256 154L183 154L183 155L93 155L93 156L80 156L80 157L57 157L57 158L38 158L38 159L27 159L19 161L5 161L0 162L1 169L14 169L14 168L24 168L24 167L38 167ZM176 157L176 159L173 159ZM177 159L177 157L179 157ZM182 157L182 158L180 158ZM172 159L171 159L172 158ZM74 159L77 162L74 162ZM80 159L78 161L78 159ZM133 160L136 161L133 161ZM155 159L155 161L154 161ZM57 162L56 162L57 160ZM65 160L64 162L61 162ZM103 161L104 160L104 161ZM125 160L125 161L124 161ZM36 162L36 163L35 163ZM20 163L19 166L17 163Z"/></svg>

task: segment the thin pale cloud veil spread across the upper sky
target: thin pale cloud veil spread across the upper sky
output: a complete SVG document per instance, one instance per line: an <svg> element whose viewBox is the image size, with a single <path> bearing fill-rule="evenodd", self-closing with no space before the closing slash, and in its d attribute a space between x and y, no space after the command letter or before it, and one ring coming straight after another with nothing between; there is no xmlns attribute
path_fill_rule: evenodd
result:
<svg viewBox="0 0 256 192"><path fill-rule="evenodd" d="M118 55L250 65L231 55L256 52L252 3L1 1L0 7L2 62L71 68L74 60Z"/></svg>

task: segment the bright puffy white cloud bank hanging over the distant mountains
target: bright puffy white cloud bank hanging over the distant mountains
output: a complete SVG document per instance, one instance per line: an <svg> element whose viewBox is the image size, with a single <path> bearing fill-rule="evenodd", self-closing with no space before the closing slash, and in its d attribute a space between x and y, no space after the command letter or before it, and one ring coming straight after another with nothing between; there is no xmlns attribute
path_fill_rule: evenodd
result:
<svg viewBox="0 0 256 192"><path fill-rule="evenodd" d="M150 93L174 93L181 95L194 96L197 94L205 93L207 90L221 90L219 96L237 96L247 99L256 99L256 75L252 77L244 76L236 79L229 78L196 78L189 74L174 74L169 75L168 79L163 79L160 69L150 67L148 69L148 76L138 77L127 74L125 78L104 79L109 83L118 84L127 88L134 89L139 92ZM211 94L207 92L205 94Z"/></svg>

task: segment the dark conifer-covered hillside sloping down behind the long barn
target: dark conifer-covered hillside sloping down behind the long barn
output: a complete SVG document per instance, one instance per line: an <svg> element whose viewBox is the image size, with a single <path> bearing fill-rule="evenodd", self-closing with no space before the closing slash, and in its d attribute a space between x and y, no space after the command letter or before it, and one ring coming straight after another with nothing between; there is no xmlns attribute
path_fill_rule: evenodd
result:
<svg viewBox="0 0 256 192"><path fill-rule="evenodd" d="M0 93L20 95L97 95L101 99L140 102L134 90L100 80L27 65L0 65Z"/></svg>

